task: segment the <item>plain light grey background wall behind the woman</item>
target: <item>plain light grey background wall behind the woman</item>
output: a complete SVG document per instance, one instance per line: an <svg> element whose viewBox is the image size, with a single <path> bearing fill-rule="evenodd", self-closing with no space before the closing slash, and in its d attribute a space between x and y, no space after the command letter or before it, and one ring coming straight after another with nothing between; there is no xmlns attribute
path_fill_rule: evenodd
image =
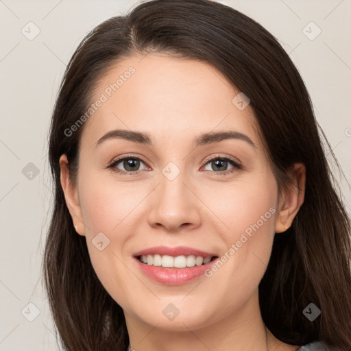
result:
<svg viewBox="0 0 351 351"><path fill-rule="evenodd" d="M51 111L66 62L80 40L136 2L0 0L0 350L60 350L40 270L52 205L47 161ZM220 2L261 23L290 54L350 183L351 1ZM40 29L33 40L21 32L34 33L29 21ZM306 36L317 34L311 21L322 30L314 40ZM32 179L23 174L29 162L39 171ZM342 179L341 190L350 215L350 188Z"/></svg>

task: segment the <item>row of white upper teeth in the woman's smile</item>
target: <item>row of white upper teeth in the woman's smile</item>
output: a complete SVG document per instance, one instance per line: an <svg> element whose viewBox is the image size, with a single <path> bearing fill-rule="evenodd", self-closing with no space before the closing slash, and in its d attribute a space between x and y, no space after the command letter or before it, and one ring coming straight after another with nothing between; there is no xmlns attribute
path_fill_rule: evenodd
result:
<svg viewBox="0 0 351 351"><path fill-rule="evenodd" d="M169 255L143 255L139 260L146 265L153 265L157 267L165 268L185 268L185 267L194 267L195 265L201 266L202 264L206 265L211 261L211 257L202 257L202 256L169 256Z"/></svg>

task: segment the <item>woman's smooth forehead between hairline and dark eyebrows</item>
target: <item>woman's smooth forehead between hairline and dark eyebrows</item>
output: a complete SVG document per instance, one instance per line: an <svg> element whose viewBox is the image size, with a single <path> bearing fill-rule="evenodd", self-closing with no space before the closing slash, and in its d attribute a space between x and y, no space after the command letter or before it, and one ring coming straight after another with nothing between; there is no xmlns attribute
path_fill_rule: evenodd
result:
<svg viewBox="0 0 351 351"><path fill-rule="evenodd" d="M88 119L84 134L96 142L109 130L123 128L174 141L175 135L193 140L202 132L234 129L258 143L250 105L239 109L235 104L239 93L206 62L154 53L132 56L97 83L92 102L103 103Z"/></svg>

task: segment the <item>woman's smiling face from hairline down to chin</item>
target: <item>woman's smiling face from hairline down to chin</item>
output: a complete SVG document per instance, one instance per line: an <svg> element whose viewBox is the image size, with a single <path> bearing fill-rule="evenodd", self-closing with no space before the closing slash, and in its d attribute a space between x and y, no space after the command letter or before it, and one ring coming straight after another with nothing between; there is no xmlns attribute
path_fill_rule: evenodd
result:
<svg viewBox="0 0 351 351"><path fill-rule="evenodd" d="M95 90L101 104L80 127L77 186L65 195L128 322L195 330L257 313L280 205L238 93L212 66L160 54L123 60ZM106 136L114 130L125 137Z"/></svg>

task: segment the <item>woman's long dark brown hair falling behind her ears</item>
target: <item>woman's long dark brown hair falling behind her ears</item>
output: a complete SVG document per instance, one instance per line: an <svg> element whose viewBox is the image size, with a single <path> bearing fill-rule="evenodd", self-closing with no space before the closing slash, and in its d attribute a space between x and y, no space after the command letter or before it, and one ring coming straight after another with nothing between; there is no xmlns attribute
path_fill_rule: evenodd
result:
<svg viewBox="0 0 351 351"><path fill-rule="evenodd" d="M279 189L291 185L293 163L306 166L304 204L291 227L276 234L259 285L261 313L267 328L285 343L319 340L332 349L350 351L350 219L326 152L339 164L298 70L274 36L241 12L210 0L140 3L129 14L97 25L66 67L49 135L55 191L43 261L64 350L128 347L123 310L99 282L86 240L73 228L58 161L67 155L74 182L84 125L70 136L65 130L86 112L99 79L114 63L150 51L208 62L250 97ZM302 313L310 303L321 311L313 322Z"/></svg>

